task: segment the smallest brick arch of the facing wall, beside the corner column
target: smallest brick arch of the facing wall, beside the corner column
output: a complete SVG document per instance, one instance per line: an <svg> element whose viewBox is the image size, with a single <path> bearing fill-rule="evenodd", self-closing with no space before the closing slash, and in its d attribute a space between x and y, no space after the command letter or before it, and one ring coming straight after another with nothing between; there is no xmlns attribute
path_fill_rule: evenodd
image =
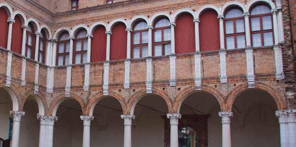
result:
<svg viewBox="0 0 296 147"><path fill-rule="evenodd" d="M59 95L54 102L50 105L50 109L48 110L48 115L56 116L59 106L66 100L74 99L79 103L81 106L82 114L85 114L85 105L83 100L79 95L76 95L75 93L70 93L70 97L65 97L65 94Z"/></svg>

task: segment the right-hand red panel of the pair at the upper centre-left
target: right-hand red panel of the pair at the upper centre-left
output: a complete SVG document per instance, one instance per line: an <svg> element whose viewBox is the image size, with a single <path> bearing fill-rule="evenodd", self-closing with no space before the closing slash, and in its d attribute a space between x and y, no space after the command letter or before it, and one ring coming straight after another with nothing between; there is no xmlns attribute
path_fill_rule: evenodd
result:
<svg viewBox="0 0 296 147"><path fill-rule="evenodd" d="M111 35L110 60L126 59L126 39L125 24L116 24Z"/></svg>

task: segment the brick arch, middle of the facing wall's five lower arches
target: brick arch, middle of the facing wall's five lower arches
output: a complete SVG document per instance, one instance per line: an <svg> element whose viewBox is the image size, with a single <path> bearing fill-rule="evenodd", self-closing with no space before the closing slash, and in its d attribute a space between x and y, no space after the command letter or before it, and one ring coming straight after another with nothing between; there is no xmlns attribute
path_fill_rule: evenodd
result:
<svg viewBox="0 0 296 147"><path fill-rule="evenodd" d="M132 96L131 99L128 103L128 110L127 110L127 114L134 114L134 110L135 107L137 105L137 103L145 96L147 95L158 95L161 96L163 98L163 100L166 102L167 104L167 108L168 108L168 113L172 113L173 112L173 102L171 101L169 95L165 92L163 92L162 90L156 89L156 88L152 88L152 93L146 93L146 89L140 89L137 92L135 92Z"/></svg>

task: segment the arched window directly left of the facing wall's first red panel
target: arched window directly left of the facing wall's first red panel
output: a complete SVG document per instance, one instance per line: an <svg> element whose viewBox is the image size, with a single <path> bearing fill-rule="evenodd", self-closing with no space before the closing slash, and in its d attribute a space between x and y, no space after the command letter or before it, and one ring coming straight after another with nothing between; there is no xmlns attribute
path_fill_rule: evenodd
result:
<svg viewBox="0 0 296 147"><path fill-rule="evenodd" d="M87 61L87 32L81 30L76 34L75 47L73 48L74 64L86 63Z"/></svg>

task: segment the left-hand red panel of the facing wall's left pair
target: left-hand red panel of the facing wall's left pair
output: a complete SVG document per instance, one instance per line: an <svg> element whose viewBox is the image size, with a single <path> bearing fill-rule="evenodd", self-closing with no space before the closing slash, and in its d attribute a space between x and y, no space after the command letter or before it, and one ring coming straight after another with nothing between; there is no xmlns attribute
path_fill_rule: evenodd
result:
<svg viewBox="0 0 296 147"><path fill-rule="evenodd" d="M93 32L91 41L91 62L105 61L106 60L106 36L105 27L97 27Z"/></svg>

